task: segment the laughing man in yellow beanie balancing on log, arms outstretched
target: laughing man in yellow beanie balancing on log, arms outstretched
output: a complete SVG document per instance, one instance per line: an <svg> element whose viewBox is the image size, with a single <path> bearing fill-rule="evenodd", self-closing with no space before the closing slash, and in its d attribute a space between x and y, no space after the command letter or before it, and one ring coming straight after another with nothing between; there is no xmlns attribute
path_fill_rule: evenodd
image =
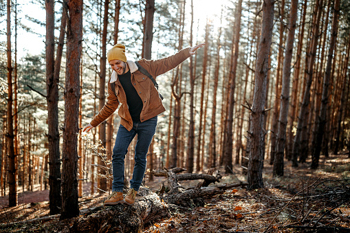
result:
<svg viewBox="0 0 350 233"><path fill-rule="evenodd" d="M167 58L160 60L142 59L138 63L155 78L174 69L203 46L204 43L182 49L177 54ZM138 70L138 65L135 62L127 60L124 45L119 43L114 45L107 52L107 60L113 69L108 82L107 103L90 124L85 126L84 132L89 132L109 118L116 111L118 105L122 104L118 111L121 120L112 156L112 194L105 201L105 206L113 206L117 203L133 205L146 171L146 155L157 126L157 115L164 112L165 108L152 80ZM130 181L131 188L124 199L122 195L124 158L129 144L136 134L138 134L138 142L135 146L133 178Z"/></svg>

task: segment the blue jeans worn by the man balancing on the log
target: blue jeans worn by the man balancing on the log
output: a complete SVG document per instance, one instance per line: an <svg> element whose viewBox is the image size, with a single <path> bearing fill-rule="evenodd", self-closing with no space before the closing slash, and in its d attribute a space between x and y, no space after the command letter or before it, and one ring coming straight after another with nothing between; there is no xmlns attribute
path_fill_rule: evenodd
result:
<svg viewBox="0 0 350 233"><path fill-rule="evenodd" d="M144 122L133 122L131 131L127 131L120 124L112 156L112 191L122 192L124 187L124 159L128 152L129 144L136 134L138 134L138 142L136 142L135 146L135 166L133 167L133 179L130 181L130 186L136 191L139 190L146 171L146 155L149 151L152 137L155 134L156 126L157 116Z"/></svg>

